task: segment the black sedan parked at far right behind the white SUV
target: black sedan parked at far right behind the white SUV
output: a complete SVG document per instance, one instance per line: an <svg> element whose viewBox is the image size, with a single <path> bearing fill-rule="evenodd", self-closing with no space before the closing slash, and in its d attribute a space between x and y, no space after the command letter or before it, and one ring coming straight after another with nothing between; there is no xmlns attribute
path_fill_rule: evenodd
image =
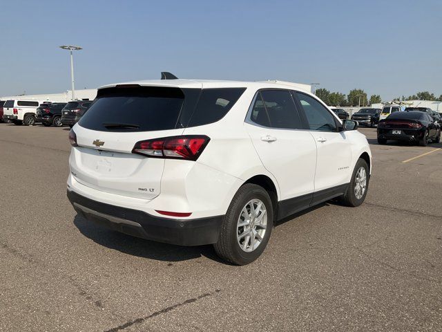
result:
<svg viewBox="0 0 442 332"><path fill-rule="evenodd" d="M378 143L385 144L387 140L416 142L426 147L429 142L441 141L441 125L427 112L391 113L378 123Z"/></svg>

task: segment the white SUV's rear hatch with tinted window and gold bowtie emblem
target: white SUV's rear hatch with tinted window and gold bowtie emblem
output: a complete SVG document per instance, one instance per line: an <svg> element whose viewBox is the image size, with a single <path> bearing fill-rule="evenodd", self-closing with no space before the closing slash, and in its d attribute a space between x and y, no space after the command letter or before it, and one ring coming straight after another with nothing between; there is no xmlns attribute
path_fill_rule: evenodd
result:
<svg viewBox="0 0 442 332"><path fill-rule="evenodd" d="M132 150L140 140L182 134L178 119L184 99L177 88L99 90L95 103L73 128L79 145L70 156L75 179L122 196L153 199L160 194L164 159Z"/></svg>

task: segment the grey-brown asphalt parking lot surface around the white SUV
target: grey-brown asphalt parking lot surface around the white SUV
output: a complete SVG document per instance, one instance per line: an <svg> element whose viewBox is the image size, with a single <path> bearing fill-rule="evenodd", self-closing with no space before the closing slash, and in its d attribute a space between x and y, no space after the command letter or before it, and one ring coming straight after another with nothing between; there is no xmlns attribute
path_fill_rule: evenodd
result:
<svg viewBox="0 0 442 332"><path fill-rule="evenodd" d="M68 129L0 124L0 331L442 331L442 144L360 130L365 203L280 223L238 267L89 225L66 198Z"/></svg>

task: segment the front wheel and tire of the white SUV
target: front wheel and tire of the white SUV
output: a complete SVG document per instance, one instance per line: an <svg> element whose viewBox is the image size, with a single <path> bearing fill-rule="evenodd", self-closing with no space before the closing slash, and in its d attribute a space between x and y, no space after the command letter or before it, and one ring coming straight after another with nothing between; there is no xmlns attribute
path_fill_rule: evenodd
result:
<svg viewBox="0 0 442 332"><path fill-rule="evenodd" d="M340 198L340 201L347 206L359 206L367 196L369 183L369 167L367 162L359 158L354 167L352 180L350 180L347 192Z"/></svg>

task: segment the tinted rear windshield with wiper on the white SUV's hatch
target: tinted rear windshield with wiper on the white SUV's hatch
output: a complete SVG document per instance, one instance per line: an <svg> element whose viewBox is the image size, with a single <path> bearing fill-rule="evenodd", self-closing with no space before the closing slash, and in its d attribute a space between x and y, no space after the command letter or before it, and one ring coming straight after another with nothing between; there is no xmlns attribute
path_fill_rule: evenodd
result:
<svg viewBox="0 0 442 332"><path fill-rule="evenodd" d="M98 131L174 129L184 102L177 88L110 88L99 91L79 124Z"/></svg>

